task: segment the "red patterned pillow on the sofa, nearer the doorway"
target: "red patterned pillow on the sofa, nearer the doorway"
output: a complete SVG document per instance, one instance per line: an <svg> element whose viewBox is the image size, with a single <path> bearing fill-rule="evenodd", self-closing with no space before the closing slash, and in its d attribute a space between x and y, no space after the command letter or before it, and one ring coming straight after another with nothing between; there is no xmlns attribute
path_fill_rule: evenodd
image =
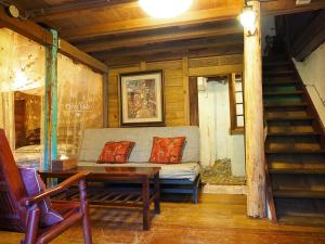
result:
<svg viewBox="0 0 325 244"><path fill-rule="evenodd" d="M182 160L185 137L157 138L154 137L151 163L179 164Z"/></svg>

